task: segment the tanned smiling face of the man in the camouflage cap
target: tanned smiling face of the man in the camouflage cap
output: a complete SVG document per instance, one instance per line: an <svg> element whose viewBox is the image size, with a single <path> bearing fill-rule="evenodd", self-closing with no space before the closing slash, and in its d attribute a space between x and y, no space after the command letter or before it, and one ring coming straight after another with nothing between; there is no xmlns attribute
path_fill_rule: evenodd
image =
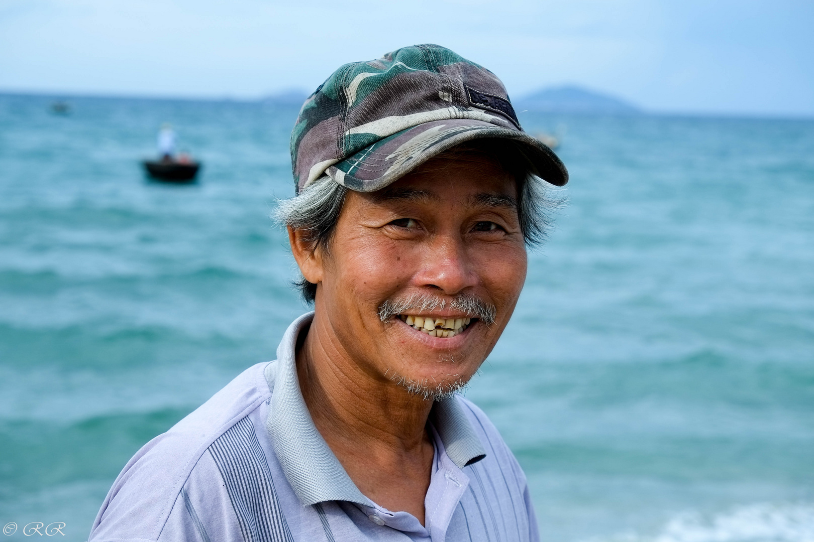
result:
<svg viewBox="0 0 814 542"><path fill-rule="evenodd" d="M514 178L486 158L436 158L377 193L349 191L330 255L314 258L317 319L374 379L418 392L466 383L526 278L516 200ZM473 298L493 323L451 303ZM398 314L383 320L382 307Z"/></svg>

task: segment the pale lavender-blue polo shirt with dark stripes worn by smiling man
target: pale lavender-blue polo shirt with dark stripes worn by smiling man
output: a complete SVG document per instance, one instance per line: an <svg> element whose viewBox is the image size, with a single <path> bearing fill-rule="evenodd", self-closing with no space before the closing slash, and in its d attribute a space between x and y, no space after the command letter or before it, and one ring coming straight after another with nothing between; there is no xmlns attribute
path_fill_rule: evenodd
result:
<svg viewBox="0 0 814 542"><path fill-rule="evenodd" d="M425 526L364 496L313 424L295 367L296 319L275 362L243 371L127 463L90 540L539 540L526 477L486 415L436 401Z"/></svg>

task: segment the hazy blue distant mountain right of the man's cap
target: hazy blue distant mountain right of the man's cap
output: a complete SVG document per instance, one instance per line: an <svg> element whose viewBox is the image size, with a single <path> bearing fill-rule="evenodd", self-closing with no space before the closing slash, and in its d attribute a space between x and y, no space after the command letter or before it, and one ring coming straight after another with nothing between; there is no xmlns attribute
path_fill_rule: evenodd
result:
<svg viewBox="0 0 814 542"><path fill-rule="evenodd" d="M599 115L637 115L641 113L641 110L632 103L576 86L538 90L536 93L517 100L514 109Z"/></svg>

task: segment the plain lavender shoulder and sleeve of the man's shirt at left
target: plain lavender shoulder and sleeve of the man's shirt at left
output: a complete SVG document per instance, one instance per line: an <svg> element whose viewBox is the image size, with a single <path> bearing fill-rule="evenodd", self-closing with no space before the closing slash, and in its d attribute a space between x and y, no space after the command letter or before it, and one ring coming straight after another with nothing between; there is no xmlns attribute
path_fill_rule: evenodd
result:
<svg viewBox="0 0 814 542"><path fill-rule="evenodd" d="M268 365L249 367L138 450L107 493L90 540L157 540L204 452L271 397L264 375Z"/></svg>

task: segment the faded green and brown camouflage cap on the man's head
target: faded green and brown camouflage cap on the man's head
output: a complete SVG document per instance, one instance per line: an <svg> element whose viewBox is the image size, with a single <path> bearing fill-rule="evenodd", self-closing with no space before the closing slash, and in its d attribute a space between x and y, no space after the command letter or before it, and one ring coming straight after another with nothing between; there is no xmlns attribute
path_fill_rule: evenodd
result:
<svg viewBox="0 0 814 542"><path fill-rule="evenodd" d="M291 132L296 192L328 174L374 192L465 141L515 141L532 173L568 182L554 151L520 128L501 80L441 46L410 46L339 67L304 103Z"/></svg>

